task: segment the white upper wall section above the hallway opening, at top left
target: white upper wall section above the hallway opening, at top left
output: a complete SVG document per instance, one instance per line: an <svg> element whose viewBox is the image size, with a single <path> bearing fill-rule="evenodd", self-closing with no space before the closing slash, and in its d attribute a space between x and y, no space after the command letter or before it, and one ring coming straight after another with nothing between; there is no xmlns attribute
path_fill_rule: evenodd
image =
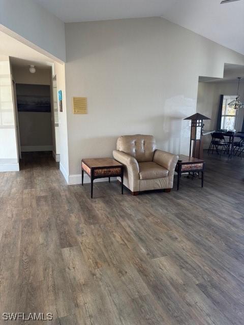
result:
<svg viewBox="0 0 244 325"><path fill-rule="evenodd" d="M0 0L0 29L49 57L66 60L64 22L32 0Z"/></svg>

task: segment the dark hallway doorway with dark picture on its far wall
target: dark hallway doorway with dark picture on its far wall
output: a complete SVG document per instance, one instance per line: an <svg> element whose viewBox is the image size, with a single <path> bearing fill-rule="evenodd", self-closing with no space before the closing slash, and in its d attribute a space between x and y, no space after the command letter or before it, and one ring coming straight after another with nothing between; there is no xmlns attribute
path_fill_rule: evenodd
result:
<svg viewBox="0 0 244 325"><path fill-rule="evenodd" d="M48 153L56 160L58 129L54 122L56 92L53 91L51 67L11 57L19 159L28 153L33 157Z"/></svg>

